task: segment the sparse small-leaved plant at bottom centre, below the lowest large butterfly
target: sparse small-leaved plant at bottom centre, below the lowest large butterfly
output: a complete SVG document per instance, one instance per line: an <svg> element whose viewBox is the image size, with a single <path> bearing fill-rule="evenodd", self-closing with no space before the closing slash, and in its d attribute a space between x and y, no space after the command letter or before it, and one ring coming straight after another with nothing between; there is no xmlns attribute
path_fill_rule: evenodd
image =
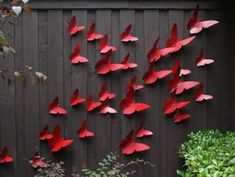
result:
<svg viewBox="0 0 235 177"><path fill-rule="evenodd" d="M134 170L136 165L155 167L155 164L142 159L122 163L118 153L110 153L99 162L97 169L93 170L86 168L82 169L82 172L85 177L128 177L133 176L136 173ZM74 174L74 176L76 175Z"/></svg>

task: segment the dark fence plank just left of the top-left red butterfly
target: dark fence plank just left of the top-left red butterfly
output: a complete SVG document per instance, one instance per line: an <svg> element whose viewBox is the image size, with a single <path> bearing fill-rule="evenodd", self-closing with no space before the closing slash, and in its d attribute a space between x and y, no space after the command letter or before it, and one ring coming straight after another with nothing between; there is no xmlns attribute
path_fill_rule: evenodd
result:
<svg viewBox="0 0 235 177"><path fill-rule="evenodd" d="M72 12L73 13L73 12ZM70 175L73 170L73 163L76 164L76 161L73 160L73 157L76 156L74 153L77 152L74 151L74 148L76 147L76 138L74 137L75 132L73 131L72 128L72 122L73 122L73 112L72 108L70 106L70 97L72 93L72 64L69 61L69 55L72 52L72 40L76 38L78 35L75 36L70 36L67 27L68 23L70 22L70 19L72 18L71 16L71 11L63 11L63 83L64 83L64 89L63 89L63 101L64 101L64 107L67 110L67 117L66 120L64 121L64 136L69 138L69 139L74 139L75 142L73 142L71 147L66 150L66 156L65 156L65 169L66 169L66 176ZM73 15L73 14L72 14ZM80 21L78 19L78 21ZM80 23L80 22L79 22Z"/></svg>

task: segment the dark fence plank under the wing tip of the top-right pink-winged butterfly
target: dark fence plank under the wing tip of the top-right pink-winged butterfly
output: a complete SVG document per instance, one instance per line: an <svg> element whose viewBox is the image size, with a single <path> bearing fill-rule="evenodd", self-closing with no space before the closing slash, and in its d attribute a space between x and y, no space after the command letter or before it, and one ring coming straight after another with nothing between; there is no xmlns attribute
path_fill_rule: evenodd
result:
<svg viewBox="0 0 235 177"><path fill-rule="evenodd" d="M214 96L211 104L208 104L208 128L226 130L229 127L229 47L221 50L221 45L228 44L226 21L224 12L207 11L207 19L216 19L220 24L206 30L206 55L215 60L215 64L208 67L208 79L206 92ZM223 68L223 69L222 69Z"/></svg>

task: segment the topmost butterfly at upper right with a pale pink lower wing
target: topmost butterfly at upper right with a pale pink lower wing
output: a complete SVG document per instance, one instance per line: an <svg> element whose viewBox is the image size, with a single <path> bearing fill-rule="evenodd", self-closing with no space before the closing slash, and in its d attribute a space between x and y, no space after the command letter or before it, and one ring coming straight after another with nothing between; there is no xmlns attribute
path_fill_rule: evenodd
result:
<svg viewBox="0 0 235 177"><path fill-rule="evenodd" d="M196 34L202 31L203 28L209 28L219 22L216 20L200 21L198 19L199 5L193 11L192 17L189 19L187 29L190 30L190 34Z"/></svg>

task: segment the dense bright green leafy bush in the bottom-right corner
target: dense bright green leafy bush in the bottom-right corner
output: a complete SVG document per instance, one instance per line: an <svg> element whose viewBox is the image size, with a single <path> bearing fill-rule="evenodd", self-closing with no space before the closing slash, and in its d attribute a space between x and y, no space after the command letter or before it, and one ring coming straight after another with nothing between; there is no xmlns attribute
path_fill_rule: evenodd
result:
<svg viewBox="0 0 235 177"><path fill-rule="evenodd" d="M181 145L185 160L182 177L235 177L235 133L218 130L200 131L188 135Z"/></svg>

